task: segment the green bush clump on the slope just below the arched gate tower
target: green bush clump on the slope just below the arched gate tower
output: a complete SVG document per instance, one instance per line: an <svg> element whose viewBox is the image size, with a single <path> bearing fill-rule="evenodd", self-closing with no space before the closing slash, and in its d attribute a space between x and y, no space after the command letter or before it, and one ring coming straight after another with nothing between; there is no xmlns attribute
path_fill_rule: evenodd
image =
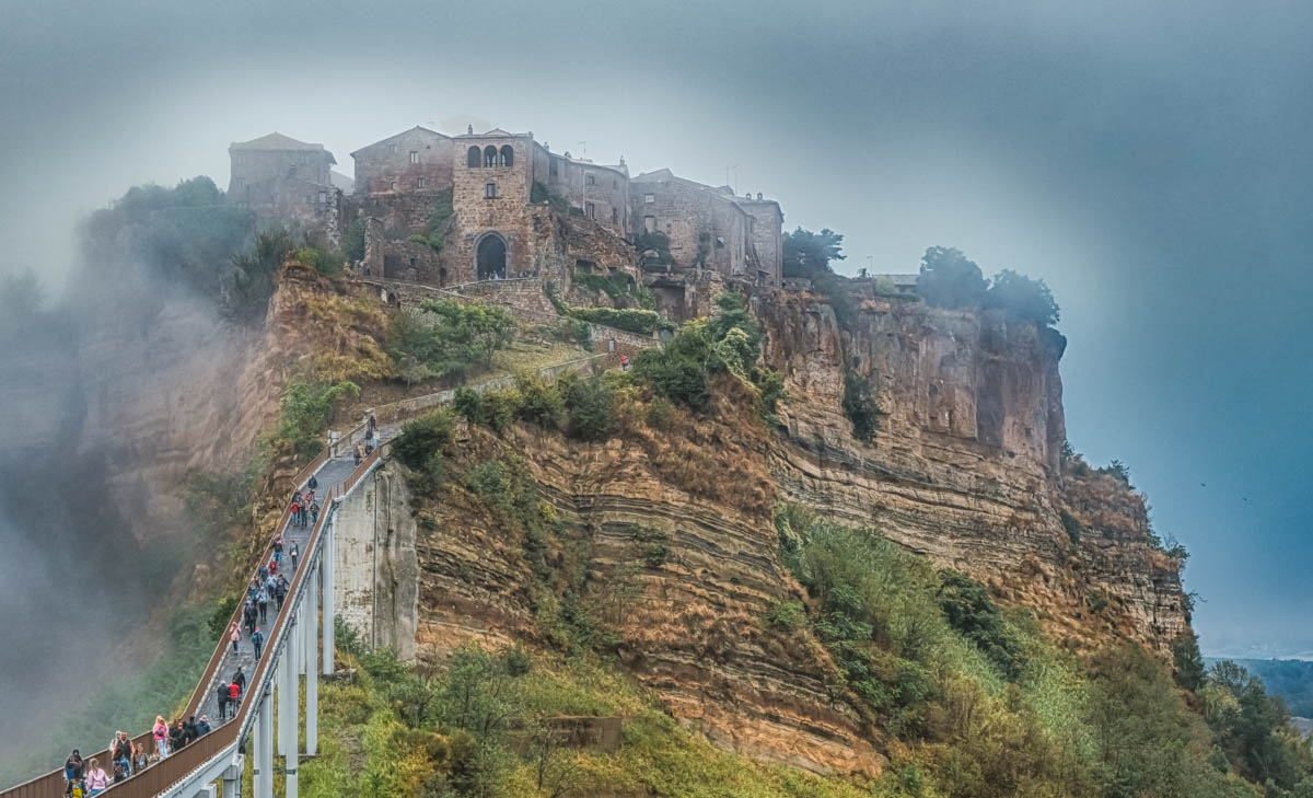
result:
<svg viewBox="0 0 1313 798"><path fill-rule="evenodd" d="M467 377L492 368L492 356L515 339L515 318L498 304L425 301L423 316L393 316L387 353L407 383Z"/></svg>

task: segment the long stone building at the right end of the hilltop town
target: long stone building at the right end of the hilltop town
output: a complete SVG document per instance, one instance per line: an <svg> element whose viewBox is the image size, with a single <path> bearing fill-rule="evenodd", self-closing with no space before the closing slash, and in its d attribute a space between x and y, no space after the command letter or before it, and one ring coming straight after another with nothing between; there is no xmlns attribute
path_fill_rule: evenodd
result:
<svg viewBox="0 0 1313 798"><path fill-rule="evenodd" d="M634 234L664 234L675 269L713 269L755 285L780 284L775 259L783 253L784 217L779 203L739 200L729 186L676 177L670 169L638 175L630 184ZM762 261L759 242L772 261Z"/></svg>

